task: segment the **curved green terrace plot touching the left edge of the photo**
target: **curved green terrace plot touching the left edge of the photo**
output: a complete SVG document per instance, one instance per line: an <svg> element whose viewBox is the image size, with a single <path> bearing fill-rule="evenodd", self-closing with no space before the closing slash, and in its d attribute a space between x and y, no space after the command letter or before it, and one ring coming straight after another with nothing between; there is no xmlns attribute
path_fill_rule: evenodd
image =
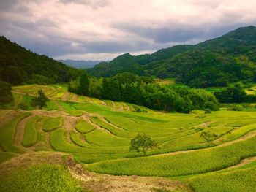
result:
<svg viewBox="0 0 256 192"><path fill-rule="evenodd" d="M17 115L0 128L1 150L6 152L22 153L22 150L20 150L17 146L12 145L12 140L15 136L16 126L18 125L18 122L23 118L28 117L29 115L29 112Z"/></svg>

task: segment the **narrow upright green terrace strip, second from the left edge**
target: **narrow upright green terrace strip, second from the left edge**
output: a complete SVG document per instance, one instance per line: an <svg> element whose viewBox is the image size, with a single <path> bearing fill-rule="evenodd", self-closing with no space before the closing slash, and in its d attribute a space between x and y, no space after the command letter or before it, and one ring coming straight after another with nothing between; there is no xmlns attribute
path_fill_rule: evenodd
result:
<svg viewBox="0 0 256 192"><path fill-rule="evenodd" d="M21 143L24 147L30 147L37 142L37 128L35 126L38 120L40 120L40 117L34 116L26 123L23 141Z"/></svg>

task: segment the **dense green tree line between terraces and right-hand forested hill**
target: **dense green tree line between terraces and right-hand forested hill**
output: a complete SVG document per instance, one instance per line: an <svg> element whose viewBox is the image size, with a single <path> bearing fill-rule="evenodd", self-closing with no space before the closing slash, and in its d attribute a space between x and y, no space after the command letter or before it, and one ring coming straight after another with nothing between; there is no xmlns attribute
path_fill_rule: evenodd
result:
<svg viewBox="0 0 256 192"><path fill-rule="evenodd" d="M83 73L69 82L69 91L98 99L125 101L154 110L188 113L191 110L218 110L218 101L207 91L176 85L159 85L152 77L124 72L96 78Z"/></svg>

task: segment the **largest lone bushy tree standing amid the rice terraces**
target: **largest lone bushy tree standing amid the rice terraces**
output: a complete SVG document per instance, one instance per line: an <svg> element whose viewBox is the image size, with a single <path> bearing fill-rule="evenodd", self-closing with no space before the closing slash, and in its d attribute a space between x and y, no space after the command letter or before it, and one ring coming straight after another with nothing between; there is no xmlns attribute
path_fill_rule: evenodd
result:
<svg viewBox="0 0 256 192"><path fill-rule="evenodd" d="M142 151L144 156L146 151L155 147L154 140L146 136L146 134L138 134L134 139L131 140L131 147L129 150L136 150L137 152Z"/></svg>

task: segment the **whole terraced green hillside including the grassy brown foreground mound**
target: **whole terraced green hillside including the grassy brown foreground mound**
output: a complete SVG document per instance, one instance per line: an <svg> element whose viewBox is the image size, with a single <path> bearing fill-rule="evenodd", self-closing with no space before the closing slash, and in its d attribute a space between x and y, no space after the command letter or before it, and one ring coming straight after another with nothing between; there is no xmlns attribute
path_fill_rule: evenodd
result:
<svg viewBox="0 0 256 192"><path fill-rule="evenodd" d="M42 110L29 105L39 89L50 98ZM59 85L23 85L12 93L13 110L0 110L5 191L35 191L45 183L51 191L256 190L255 111L135 112L133 104L78 96ZM24 103L29 110L20 110ZM205 131L217 136L208 142ZM129 150L138 133L157 143L146 156Z"/></svg>

